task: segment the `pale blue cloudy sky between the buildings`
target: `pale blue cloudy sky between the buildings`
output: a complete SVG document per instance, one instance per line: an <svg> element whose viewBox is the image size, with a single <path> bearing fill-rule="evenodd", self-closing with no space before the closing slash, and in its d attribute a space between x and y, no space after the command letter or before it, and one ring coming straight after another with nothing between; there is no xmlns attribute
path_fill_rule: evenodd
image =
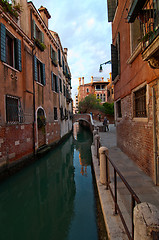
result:
<svg viewBox="0 0 159 240"><path fill-rule="evenodd" d="M111 72L111 65L99 66L111 59L111 24L107 18L106 0L33 0L35 7L47 8L51 15L49 29L58 33L62 47L68 48L68 65L72 75L72 98L79 85L93 77L104 77Z"/></svg>

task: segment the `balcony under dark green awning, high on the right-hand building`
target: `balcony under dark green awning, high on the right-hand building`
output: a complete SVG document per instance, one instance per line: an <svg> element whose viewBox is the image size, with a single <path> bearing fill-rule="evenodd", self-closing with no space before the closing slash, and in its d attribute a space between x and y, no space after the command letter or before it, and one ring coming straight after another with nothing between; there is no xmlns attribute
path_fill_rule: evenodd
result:
<svg viewBox="0 0 159 240"><path fill-rule="evenodd" d="M159 68L159 3L158 0L133 1L128 22L138 17L141 24L142 58L152 68Z"/></svg>

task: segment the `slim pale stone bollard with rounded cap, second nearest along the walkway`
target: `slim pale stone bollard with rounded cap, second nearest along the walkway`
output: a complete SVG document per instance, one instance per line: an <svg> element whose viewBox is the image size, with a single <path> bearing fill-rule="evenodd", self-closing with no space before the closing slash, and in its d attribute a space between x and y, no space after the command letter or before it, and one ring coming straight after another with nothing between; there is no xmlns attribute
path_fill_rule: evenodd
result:
<svg viewBox="0 0 159 240"><path fill-rule="evenodd" d="M108 155L108 148L100 147L99 156L100 156L100 182L102 184L107 183L108 176L106 176L106 154Z"/></svg>

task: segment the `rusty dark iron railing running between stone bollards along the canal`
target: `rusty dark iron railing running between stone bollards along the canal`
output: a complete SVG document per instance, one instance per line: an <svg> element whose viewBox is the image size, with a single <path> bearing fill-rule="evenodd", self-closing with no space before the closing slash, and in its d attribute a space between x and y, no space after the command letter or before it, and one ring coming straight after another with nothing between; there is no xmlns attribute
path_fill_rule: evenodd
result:
<svg viewBox="0 0 159 240"><path fill-rule="evenodd" d="M101 144L100 144L100 140L97 139L97 158L98 158L98 163L100 164L99 161L99 148L100 148ZM114 170L114 175L113 175L113 179L114 179L114 187L111 187L111 182L110 182L110 176L109 176L109 163L111 164L111 166L113 167ZM122 210L119 207L118 204L118 181L117 181L117 175L119 176L119 178L121 179L121 181L124 183L124 185L126 186L127 190L129 191L130 195L131 195L131 226L132 226L132 231L129 231L128 225L124 219L124 216L122 214ZM111 179L112 180L112 179ZM137 204L141 203L140 199L138 198L138 196L136 195L136 193L134 192L134 190L130 187L130 185L128 184L128 182L126 181L126 179L124 178L124 176L121 174L121 172L119 171L119 169L116 167L116 165L114 164L114 162L106 155L106 190L110 190L110 193L112 195L113 201L114 201L114 213L118 214L121 218L122 224L124 226L125 232L128 236L128 239L133 240L134 239L134 221L133 221L133 210L134 207Z"/></svg>

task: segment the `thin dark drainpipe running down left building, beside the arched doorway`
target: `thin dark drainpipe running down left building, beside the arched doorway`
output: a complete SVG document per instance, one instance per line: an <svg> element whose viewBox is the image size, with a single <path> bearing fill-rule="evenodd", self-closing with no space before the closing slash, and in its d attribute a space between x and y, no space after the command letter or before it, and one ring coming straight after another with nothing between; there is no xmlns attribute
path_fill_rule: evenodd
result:
<svg viewBox="0 0 159 240"><path fill-rule="evenodd" d="M32 10L30 11L30 21L32 26ZM31 27L31 39L33 37L33 29ZM35 123L36 123L36 116L35 116L35 85L34 85L34 50L35 50L35 42L32 48L32 74L33 74L33 156L35 157Z"/></svg>

